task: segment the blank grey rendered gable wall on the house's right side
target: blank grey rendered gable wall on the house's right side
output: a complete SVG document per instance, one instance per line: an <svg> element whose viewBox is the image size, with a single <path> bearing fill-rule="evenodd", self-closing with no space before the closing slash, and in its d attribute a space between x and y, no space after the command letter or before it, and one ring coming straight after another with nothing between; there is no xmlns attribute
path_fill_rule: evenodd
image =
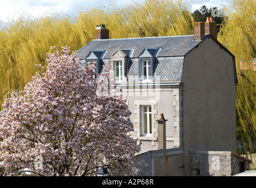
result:
<svg viewBox="0 0 256 188"><path fill-rule="evenodd" d="M211 38L185 56L182 76L185 176L189 150L235 152L233 59Z"/></svg>

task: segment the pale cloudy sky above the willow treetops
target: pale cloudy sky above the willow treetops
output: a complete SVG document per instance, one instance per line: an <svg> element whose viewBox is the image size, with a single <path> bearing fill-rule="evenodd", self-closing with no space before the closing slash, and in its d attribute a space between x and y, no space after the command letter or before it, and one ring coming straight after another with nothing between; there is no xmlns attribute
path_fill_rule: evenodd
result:
<svg viewBox="0 0 256 188"><path fill-rule="evenodd" d="M202 5L207 8L229 5L228 1L221 0L192 0L192 11L199 9ZM8 18L22 14L42 16L45 12L58 12L70 16L78 16L80 8L100 6L102 8L114 3L117 6L130 4L129 0L0 0L0 20L8 22Z"/></svg>

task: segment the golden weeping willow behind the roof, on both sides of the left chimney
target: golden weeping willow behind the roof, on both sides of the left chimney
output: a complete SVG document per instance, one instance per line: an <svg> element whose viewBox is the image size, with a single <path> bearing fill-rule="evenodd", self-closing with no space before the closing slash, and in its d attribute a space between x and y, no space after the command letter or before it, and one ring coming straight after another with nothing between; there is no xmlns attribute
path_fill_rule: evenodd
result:
<svg viewBox="0 0 256 188"><path fill-rule="evenodd" d="M180 0L145 0L125 6L110 6L80 12L77 28L84 36L94 38L95 25L106 24L110 38L135 38L166 35L192 35L191 4ZM87 41L90 42L90 41Z"/></svg>

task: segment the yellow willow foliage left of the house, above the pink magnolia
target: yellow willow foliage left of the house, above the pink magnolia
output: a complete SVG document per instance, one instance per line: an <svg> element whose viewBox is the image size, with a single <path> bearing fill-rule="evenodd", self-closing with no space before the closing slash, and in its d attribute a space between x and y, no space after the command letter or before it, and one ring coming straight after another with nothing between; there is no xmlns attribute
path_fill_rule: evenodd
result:
<svg viewBox="0 0 256 188"><path fill-rule="evenodd" d="M36 64L45 65L45 53L51 46L81 46L73 22L68 16L48 15L12 19L0 32L0 103L13 91L24 88L37 72ZM1 105L2 108L2 105Z"/></svg>

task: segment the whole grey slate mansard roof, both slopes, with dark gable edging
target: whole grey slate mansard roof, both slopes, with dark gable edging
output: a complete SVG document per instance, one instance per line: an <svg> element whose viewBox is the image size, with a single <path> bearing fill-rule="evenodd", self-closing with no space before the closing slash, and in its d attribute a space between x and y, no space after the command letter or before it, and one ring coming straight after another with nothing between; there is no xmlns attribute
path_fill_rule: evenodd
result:
<svg viewBox="0 0 256 188"><path fill-rule="evenodd" d="M110 61L111 55L117 50L121 50L127 56L130 56L130 59L133 59L130 61L131 63L127 72L127 78L130 78L130 76L139 75L139 62L137 58L145 54L146 51L148 55L157 57L153 80L159 80L160 82L181 82L183 57L208 37L212 38L222 49L233 57L235 83L238 83L234 55L222 46L211 34L205 35L201 41L194 41L194 35L95 39L79 49L77 56L81 60L86 59L88 55L90 58L93 58L93 56L99 58L100 56L100 59Z"/></svg>

